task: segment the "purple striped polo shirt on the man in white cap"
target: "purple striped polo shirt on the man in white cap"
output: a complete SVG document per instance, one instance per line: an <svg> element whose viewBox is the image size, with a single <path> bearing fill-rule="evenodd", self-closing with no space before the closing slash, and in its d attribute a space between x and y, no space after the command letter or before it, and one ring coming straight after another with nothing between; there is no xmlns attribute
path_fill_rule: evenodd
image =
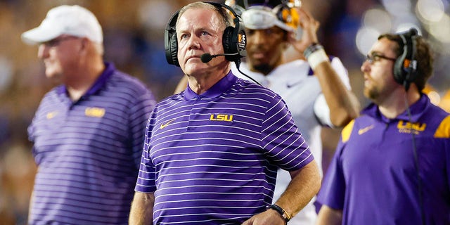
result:
<svg viewBox="0 0 450 225"><path fill-rule="evenodd" d="M154 105L110 63L79 101L65 86L47 93L28 128L38 165L29 224L127 224Z"/></svg>

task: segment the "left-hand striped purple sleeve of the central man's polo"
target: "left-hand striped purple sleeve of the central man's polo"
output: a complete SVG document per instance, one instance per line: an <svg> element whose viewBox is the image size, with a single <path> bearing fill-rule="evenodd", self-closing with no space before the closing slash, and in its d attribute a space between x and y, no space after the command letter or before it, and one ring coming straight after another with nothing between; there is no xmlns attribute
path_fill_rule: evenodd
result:
<svg viewBox="0 0 450 225"><path fill-rule="evenodd" d="M155 125L155 111L150 115L146 126L145 138L143 141L143 150L141 157L141 165L139 167L138 179L134 191L150 193L156 191L156 168L150 160L148 151L150 149L150 138Z"/></svg>

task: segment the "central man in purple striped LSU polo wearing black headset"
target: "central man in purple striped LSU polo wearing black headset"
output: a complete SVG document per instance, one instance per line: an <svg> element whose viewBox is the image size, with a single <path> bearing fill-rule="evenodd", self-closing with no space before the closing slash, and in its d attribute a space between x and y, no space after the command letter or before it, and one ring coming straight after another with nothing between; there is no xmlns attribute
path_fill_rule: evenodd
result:
<svg viewBox="0 0 450 225"><path fill-rule="evenodd" d="M168 62L188 87L150 115L130 224L285 224L319 189L281 97L231 72L245 32L227 9L196 2L167 25ZM278 167L293 180L271 205Z"/></svg>

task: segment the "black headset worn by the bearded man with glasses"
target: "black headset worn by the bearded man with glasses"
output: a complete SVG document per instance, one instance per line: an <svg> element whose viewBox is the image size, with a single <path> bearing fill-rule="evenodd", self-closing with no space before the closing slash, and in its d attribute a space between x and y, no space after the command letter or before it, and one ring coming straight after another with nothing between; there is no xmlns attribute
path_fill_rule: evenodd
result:
<svg viewBox="0 0 450 225"><path fill-rule="evenodd" d="M417 60L416 60L416 39L418 32L411 28L408 32L399 34L402 43L400 48L403 48L401 56L395 60L394 63L394 80L403 85L408 91L411 82L414 82L418 76Z"/></svg>

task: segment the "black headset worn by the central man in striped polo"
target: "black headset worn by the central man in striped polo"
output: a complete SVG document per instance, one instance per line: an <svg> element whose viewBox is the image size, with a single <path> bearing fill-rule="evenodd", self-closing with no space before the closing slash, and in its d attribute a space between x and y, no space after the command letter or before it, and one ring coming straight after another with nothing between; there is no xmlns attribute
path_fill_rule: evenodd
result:
<svg viewBox="0 0 450 225"><path fill-rule="evenodd" d="M224 46L224 53L226 54L226 60L231 62L240 63L240 58L245 56L245 45L246 37L244 31L244 24L238 14L233 11L233 8L227 6L226 4L221 4L217 2L205 2L207 4L212 4L217 8L226 8L234 16L233 23L234 27L226 27L224 34L222 36L222 45ZM164 46L167 63L180 66L178 61L178 41L176 40L176 20L178 19L179 11L176 11L174 15L169 19L169 23L166 25L166 30L164 33Z"/></svg>

